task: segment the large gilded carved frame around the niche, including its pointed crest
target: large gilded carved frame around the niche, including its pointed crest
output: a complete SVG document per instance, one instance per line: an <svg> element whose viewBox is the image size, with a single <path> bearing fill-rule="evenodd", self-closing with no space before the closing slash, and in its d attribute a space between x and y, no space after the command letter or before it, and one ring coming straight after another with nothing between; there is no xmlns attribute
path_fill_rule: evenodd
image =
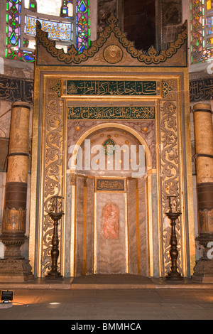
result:
<svg viewBox="0 0 213 334"><path fill-rule="evenodd" d="M105 126L120 127L131 132L146 147L147 158L147 221L148 221L148 262L149 276L165 276L168 270L168 241L169 229L164 225L165 210L168 205L165 195L173 191L170 186L165 188L166 182L171 182L171 178L163 174L163 164L165 158L168 163L168 150L171 149L165 138L169 130L173 130L175 138L174 151L178 158L173 158L173 166L176 168L175 182L178 187L178 199L182 216L178 227L180 235L180 267L183 276L192 275L195 266L195 228L192 193L192 163L191 163L191 139L190 139L190 99L189 99L189 74L186 65L187 55L187 24L183 26L183 31L178 35L175 43L171 43L168 50L160 52L159 55L151 48L148 54L136 51L132 43L116 26L116 20L109 18L109 27L102 33L99 39L92 43L91 50L82 55L78 55L72 48L69 55L64 55L62 50L56 50L52 41L48 41L47 34L37 26L37 60L35 63L34 82L34 105L33 105L33 144L32 144L32 168L31 168L31 212L30 212L30 232L29 232L29 259L35 277L42 277L48 269L48 242L50 238L50 222L47 220L48 200L51 195L58 191L66 198L67 173L67 106L70 103L75 105L91 105L94 103L140 105L143 103L153 103L155 106L155 143L156 143L156 166L153 168L151 151L143 139L143 134L136 131L131 126L123 124L121 119L114 122L99 120L101 124L92 126L84 131L75 142L81 142L92 131ZM124 62L119 65L110 65L102 58L104 47L109 46L113 38L113 43L117 44L124 53ZM57 52L56 52L57 51ZM56 54L57 53L57 54ZM134 55L136 55L134 57ZM62 57L62 58L61 58ZM131 63L129 60L131 59ZM184 60L184 61L183 61ZM70 65L70 62L72 65ZM50 65L48 65L50 64ZM80 64L80 65L78 65ZM129 65L131 64L131 65ZM176 67L175 67L176 66ZM163 87L160 87L160 96L155 97L130 97L128 95L118 96L66 96L62 93L62 82L64 80L166 80L168 92L163 96ZM50 80L57 82L57 90L49 90ZM175 82L175 89L171 82ZM170 85L171 84L171 85ZM170 87L169 87L170 86ZM59 88L60 87L60 88ZM59 106L58 109L56 106ZM52 108L52 109L51 109ZM172 111L172 114L166 113ZM48 113L52 112L52 119L48 119ZM55 113L54 113L55 112ZM171 118L170 118L171 117ZM173 119L170 124L169 120ZM82 122L80 120L80 122ZM129 120L131 123L131 120ZM54 133L54 136L53 136ZM57 137L57 135L59 137ZM57 144L51 139L57 139ZM57 146L58 145L58 146ZM165 153L165 150L166 153ZM52 154L50 154L52 153ZM164 155L163 155L164 154ZM58 162L57 171L50 168L51 159ZM58 159L58 160L57 160ZM51 165L53 167L53 165ZM177 172L178 171L178 172ZM47 186L49 183L56 185ZM164 178L164 179L163 179ZM156 182L155 193L153 184ZM49 187L49 188L48 188ZM75 273L75 203L76 186L72 188L72 215L71 215L71 248L70 248L70 274ZM48 190L47 190L48 189ZM176 191L176 190L175 190ZM153 195L156 196L157 206L153 207ZM96 193L94 193L95 199ZM65 201L66 203L66 201ZM66 204L65 204L66 205ZM64 211L66 213L66 206ZM60 272L65 274L65 216L60 225ZM44 224L45 220L45 224ZM94 225L96 223L94 217ZM154 238L155 236L155 238ZM157 240L157 241L156 241ZM44 246L45 244L45 246ZM94 247L95 242L94 242ZM44 256L45 250L45 256ZM158 252L158 254L155 254ZM94 268L95 272L95 268Z"/></svg>

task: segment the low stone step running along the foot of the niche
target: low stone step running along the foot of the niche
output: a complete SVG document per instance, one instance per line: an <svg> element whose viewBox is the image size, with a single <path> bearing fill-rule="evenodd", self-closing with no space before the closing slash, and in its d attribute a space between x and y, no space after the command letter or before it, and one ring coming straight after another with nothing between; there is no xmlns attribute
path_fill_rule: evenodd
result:
<svg viewBox="0 0 213 334"><path fill-rule="evenodd" d="M96 274L64 279L33 279L26 282L0 282L0 289L213 289L213 284L191 279L170 281L139 275Z"/></svg>

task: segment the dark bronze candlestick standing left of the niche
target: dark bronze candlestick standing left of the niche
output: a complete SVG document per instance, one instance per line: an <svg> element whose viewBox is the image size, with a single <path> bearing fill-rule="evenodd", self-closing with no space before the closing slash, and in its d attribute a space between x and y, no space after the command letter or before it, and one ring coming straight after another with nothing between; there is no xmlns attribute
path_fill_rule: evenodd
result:
<svg viewBox="0 0 213 334"><path fill-rule="evenodd" d="M58 220L60 220L62 215L64 215L64 213L62 212L61 196L53 196L52 208L49 215L53 220L53 238L52 238L52 249L51 249L52 265L51 265L51 270L45 277L47 279L61 279L62 274L60 274L60 272L58 271L58 265L57 265L59 256Z"/></svg>

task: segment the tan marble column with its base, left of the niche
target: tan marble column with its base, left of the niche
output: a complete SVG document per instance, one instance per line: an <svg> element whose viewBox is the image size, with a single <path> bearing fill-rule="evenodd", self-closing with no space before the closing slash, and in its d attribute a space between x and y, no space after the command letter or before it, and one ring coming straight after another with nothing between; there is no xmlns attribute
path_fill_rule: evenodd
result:
<svg viewBox="0 0 213 334"><path fill-rule="evenodd" d="M26 241L26 195L29 158L30 104L14 102L11 128L6 194L1 225L4 259L0 260L0 281L28 281L33 278L29 261L21 256Z"/></svg>

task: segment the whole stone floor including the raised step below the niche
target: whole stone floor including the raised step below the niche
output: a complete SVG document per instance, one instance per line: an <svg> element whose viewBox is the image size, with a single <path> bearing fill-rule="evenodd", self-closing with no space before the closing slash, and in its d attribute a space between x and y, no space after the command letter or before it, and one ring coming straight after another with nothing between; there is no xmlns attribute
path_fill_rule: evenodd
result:
<svg viewBox="0 0 213 334"><path fill-rule="evenodd" d="M213 284L190 280L95 275L0 289L14 291L12 305L0 303L1 320L213 320Z"/></svg>

